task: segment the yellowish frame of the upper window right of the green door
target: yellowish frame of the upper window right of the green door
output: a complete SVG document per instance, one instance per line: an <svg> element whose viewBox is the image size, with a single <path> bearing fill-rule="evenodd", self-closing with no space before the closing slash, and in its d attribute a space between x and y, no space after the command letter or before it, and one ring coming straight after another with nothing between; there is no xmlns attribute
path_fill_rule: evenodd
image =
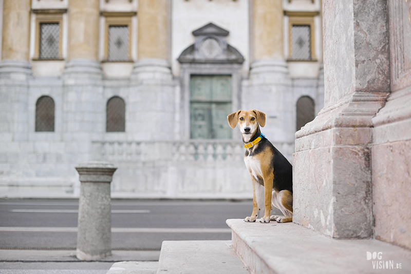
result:
<svg viewBox="0 0 411 274"><path fill-rule="evenodd" d="M317 13L312 12L286 12L289 16L288 19L288 60L291 62L316 62L315 56L315 31L314 31L314 16ZM292 58L292 36L291 30L293 26L309 26L310 27L310 59L308 60L296 60Z"/></svg>

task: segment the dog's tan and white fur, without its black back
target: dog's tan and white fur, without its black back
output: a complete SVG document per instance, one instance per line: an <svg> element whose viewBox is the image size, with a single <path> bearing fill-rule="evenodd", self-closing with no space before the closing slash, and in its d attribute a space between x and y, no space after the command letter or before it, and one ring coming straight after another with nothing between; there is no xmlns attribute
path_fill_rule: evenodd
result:
<svg viewBox="0 0 411 274"><path fill-rule="evenodd" d="M228 123L231 128L237 125L242 134L244 142L249 142L258 130L258 125L264 127L266 125L266 114L258 110L239 110L227 116ZM245 131L245 128L250 128L250 133ZM254 149L260 143L254 145ZM250 152L250 149L248 149ZM271 159L271 150L266 149L259 154L250 156L246 153L244 162L250 172L250 177L253 183L253 212L250 217L245 218L246 222L255 222L258 216L258 195L256 188L261 185L261 178L264 184L264 217L260 219L260 223L269 223L270 220L281 223L292 222L292 193L288 190L282 190L276 193L273 190L273 166L270 161L264 159ZM270 212L272 205L279 208L285 216L271 216Z"/></svg>

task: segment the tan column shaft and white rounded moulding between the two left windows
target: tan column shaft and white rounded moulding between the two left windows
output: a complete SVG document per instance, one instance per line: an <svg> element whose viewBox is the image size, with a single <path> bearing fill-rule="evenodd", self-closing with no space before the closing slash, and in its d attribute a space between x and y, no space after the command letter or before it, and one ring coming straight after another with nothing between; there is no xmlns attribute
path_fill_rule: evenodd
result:
<svg viewBox="0 0 411 274"><path fill-rule="evenodd" d="M102 77L98 62L99 0L70 0L68 58L65 75Z"/></svg>

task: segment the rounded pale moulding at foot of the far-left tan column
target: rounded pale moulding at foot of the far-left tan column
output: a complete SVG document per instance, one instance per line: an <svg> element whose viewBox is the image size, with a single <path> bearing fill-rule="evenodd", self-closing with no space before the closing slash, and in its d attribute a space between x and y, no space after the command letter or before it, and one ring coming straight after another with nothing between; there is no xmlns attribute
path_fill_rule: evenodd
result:
<svg viewBox="0 0 411 274"><path fill-rule="evenodd" d="M24 60L3 60L0 62L0 79L26 81L33 76L31 65Z"/></svg>

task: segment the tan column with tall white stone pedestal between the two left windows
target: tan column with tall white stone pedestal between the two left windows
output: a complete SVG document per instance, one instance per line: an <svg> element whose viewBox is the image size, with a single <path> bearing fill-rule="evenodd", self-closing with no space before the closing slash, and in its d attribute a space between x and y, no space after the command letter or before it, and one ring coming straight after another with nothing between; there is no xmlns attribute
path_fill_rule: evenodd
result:
<svg viewBox="0 0 411 274"><path fill-rule="evenodd" d="M63 71L63 136L74 163L87 161L105 131L103 70L98 62L99 0L68 3L68 61Z"/></svg>

